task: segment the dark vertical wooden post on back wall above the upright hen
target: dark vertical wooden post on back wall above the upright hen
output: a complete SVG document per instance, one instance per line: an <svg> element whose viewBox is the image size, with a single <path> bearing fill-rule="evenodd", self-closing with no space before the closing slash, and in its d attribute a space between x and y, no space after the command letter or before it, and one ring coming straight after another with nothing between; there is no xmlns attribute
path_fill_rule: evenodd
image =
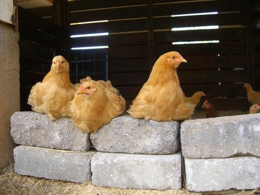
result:
<svg viewBox="0 0 260 195"><path fill-rule="evenodd" d="M148 24L148 63L149 71L152 71L155 62L153 1L147 0L147 24Z"/></svg>

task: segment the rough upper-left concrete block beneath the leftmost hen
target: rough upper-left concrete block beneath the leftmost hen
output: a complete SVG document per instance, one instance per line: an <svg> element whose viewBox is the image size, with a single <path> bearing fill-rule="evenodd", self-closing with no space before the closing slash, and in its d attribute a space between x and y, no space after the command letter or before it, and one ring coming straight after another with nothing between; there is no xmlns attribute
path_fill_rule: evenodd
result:
<svg viewBox="0 0 260 195"><path fill-rule="evenodd" d="M50 121L36 112L16 112L11 117L11 135L15 143L50 149L88 151L89 134L77 129L71 118Z"/></svg>

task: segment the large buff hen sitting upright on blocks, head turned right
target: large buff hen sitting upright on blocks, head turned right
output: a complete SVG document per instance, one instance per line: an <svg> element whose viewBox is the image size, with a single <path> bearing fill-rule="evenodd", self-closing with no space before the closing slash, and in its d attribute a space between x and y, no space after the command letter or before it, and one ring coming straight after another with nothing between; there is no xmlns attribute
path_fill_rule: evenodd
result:
<svg viewBox="0 0 260 195"><path fill-rule="evenodd" d="M186 102L177 75L181 62L187 61L178 52L161 55L127 112L136 118L157 121L190 118L194 107Z"/></svg>

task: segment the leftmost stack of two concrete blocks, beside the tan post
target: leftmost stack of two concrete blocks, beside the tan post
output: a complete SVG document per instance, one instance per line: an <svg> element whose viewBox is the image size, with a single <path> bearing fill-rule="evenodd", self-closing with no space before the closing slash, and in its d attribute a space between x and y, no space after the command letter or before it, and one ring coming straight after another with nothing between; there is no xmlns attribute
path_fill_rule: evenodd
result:
<svg viewBox="0 0 260 195"><path fill-rule="evenodd" d="M39 113L16 112L11 135L20 144L14 149L17 174L80 183L91 179L96 152L89 151L89 134L74 128L70 118L50 121Z"/></svg>

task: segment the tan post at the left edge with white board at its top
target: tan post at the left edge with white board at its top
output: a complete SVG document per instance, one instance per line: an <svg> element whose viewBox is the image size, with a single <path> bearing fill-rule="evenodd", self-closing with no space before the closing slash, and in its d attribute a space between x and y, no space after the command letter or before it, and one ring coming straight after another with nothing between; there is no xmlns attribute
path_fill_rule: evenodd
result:
<svg viewBox="0 0 260 195"><path fill-rule="evenodd" d="M11 7L10 7L11 6ZM0 1L0 168L14 159L10 118L20 111L17 1ZM14 20L15 19L15 20Z"/></svg>

